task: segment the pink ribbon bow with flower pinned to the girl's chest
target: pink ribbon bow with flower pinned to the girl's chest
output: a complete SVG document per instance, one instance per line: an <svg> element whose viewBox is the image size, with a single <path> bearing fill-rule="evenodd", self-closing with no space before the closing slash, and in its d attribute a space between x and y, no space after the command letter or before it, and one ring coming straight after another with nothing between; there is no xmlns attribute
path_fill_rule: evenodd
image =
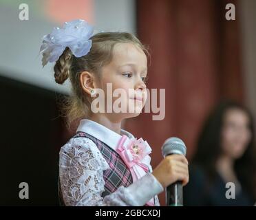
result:
<svg viewBox="0 0 256 220"><path fill-rule="evenodd" d="M152 149L142 138L130 140L125 144L126 135L122 135L118 142L117 152L131 171L133 181L136 181L149 172ZM147 202L148 206L154 206L153 198Z"/></svg>

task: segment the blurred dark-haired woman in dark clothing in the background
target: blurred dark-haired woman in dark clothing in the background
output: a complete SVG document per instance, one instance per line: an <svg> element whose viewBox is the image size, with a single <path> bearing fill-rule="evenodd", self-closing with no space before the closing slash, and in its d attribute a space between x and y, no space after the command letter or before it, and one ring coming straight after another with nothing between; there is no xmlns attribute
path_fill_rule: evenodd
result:
<svg viewBox="0 0 256 220"><path fill-rule="evenodd" d="M253 117L241 104L222 102L214 109L204 123L191 162L184 206L253 206L254 135ZM226 186L228 182L235 186L235 199L226 197L227 190L233 190Z"/></svg>

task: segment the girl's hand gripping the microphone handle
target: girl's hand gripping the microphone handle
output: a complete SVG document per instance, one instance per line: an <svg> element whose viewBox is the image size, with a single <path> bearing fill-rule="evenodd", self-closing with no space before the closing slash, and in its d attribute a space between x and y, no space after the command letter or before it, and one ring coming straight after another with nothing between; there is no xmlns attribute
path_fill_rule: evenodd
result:
<svg viewBox="0 0 256 220"><path fill-rule="evenodd" d="M153 170L152 174L158 179L163 188L182 181L185 186L189 182L189 162L184 155L168 155Z"/></svg>

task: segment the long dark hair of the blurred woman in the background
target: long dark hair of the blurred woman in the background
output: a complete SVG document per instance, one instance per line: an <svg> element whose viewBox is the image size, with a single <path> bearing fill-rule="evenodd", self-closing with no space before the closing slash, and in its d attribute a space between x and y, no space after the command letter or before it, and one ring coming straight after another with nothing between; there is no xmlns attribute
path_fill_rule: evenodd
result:
<svg viewBox="0 0 256 220"><path fill-rule="evenodd" d="M248 129L251 133L251 138L243 155L235 159L234 170L244 190L248 192L252 199L256 200L256 151L253 116L242 104L223 101L217 105L202 127L198 138L198 150L192 159L192 163L203 168L209 177L210 183L216 177L215 164L222 155L221 142L224 117L230 109L239 109L248 115Z"/></svg>

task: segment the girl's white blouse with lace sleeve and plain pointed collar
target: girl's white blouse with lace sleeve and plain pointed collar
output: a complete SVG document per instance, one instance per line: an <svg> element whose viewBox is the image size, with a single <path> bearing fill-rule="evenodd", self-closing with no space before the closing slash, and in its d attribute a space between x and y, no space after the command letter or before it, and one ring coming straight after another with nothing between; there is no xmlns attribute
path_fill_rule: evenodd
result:
<svg viewBox="0 0 256 220"><path fill-rule="evenodd" d="M91 120L81 120L76 131L83 131L105 142L116 144L118 133ZM121 134L133 137L127 131ZM103 155L87 137L71 138L59 153L59 177L63 201L66 206L143 206L164 189L151 173L135 181L129 187L120 186L115 192L101 197L105 181L103 171L109 168Z"/></svg>

